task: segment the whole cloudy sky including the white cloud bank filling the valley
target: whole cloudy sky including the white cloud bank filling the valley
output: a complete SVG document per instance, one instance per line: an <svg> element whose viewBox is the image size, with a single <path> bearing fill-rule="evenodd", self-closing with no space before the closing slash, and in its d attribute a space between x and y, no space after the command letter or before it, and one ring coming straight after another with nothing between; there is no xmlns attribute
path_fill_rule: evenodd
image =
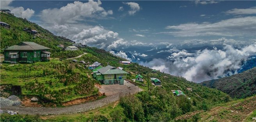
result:
<svg viewBox="0 0 256 122"><path fill-rule="evenodd" d="M157 52L167 58L139 63L194 82L232 75L256 55L256 0L0 0L0 8L137 62L148 55L122 49L169 48ZM214 49L182 50L204 45Z"/></svg>

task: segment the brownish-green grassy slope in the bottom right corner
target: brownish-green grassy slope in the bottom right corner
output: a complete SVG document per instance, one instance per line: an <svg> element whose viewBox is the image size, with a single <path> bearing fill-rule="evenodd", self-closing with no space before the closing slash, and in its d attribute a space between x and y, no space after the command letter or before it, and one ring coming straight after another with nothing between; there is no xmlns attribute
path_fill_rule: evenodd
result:
<svg viewBox="0 0 256 122"><path fill-rule="evenodd" d="M199 122L252 122L252 117L256 117L255 104L256 96L238 99L225 105L217 105L208 111L186 113L178 117L177 121L192 122L194 121L193 116L197 113L199 114Z"/></svg>

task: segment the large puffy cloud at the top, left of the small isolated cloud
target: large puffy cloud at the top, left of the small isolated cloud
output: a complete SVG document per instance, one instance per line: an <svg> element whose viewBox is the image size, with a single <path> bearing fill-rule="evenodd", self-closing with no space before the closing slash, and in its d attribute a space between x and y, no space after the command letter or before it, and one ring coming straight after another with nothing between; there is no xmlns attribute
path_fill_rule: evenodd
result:
<svg viewBox="0 0 256 122"><path fill-rule="evenodd" d="M66 24L76 23L77 20L83 20L83 17L105 17L113 14L112 10L104 10L100 7L101 1L89 0L83 3L75 1L60 9L44 9L41 11L40 17L46 23Z"/></svg>

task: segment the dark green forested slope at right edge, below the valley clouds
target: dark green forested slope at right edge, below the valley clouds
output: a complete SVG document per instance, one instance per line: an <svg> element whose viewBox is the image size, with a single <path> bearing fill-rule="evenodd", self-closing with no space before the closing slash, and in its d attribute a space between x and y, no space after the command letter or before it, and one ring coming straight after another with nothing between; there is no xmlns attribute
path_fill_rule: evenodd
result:
<svg viewBox="0 0 256 122"><path fill-rule="evenodd" d="M201 84L223 91L233 98L246 98L256 94L256 68L229 77L204 81Z"/></svg>

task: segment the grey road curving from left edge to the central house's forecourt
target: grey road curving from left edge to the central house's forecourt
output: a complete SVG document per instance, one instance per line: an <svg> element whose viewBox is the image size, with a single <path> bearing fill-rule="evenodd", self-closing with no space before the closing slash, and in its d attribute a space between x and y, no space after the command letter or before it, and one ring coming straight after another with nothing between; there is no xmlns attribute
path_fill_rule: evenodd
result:
<svg viewBox="0 0 256 122"><path fill-rule="evenodd" d="M116 89L116 91L113 92L112 90L112 93L108 94L106 98L83 103L80 105L67 106L64 108L32 108L32 107L22 108L20 106L5 106L5 107L1 107L1 110L5 112L7 110L18 111L20 114L28 114L28 115L36 115L37 113L39 113L40 115L59 115L59 114L72 114L72 113L86 112L86 111L99 108L119 100L120 94L127 94L127 93L135 94L136 92L138 92L137 86L127 82L124 84L128 84L130 88L128 88L126 85L106 85L107 87L111 86L113 89ZM105 93L106 93L107 89L103 89L104 87L105 86L103 85L99 90L101 92L105 90ZM142 91L142 89L139 88L139 91Z"/></svg>

